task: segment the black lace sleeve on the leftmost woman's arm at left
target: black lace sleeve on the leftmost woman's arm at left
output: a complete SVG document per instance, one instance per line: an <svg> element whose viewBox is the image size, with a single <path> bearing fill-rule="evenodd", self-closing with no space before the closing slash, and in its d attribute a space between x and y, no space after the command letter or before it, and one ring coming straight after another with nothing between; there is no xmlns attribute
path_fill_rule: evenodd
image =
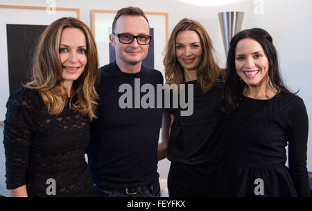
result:
<svg viewBox="0 0 312 211"><path fill-rule="evenodd" d="M29 149L35 124L34 98L26 88L11 94L6 104L3 146L6 155L6 186L15 189L26 184Z"/></svg>

